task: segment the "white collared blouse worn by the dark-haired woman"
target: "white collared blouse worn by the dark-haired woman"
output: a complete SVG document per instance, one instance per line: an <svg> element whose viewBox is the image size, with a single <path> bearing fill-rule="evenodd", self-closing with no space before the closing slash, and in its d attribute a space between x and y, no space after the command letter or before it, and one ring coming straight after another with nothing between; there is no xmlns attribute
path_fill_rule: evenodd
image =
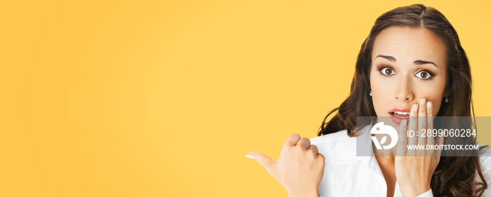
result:
<svg viewBox="0 0 491 197"><path fill-rule="evenodd" d="M358 131L357 137L370 140L370 125ZM366 137L366 139L365 139ZM375 156L356 156L356 137L349 137L347 130L313 137L311 144L325 156L324 175L318 191L329 196L386 196L387 186ZM491 197L491 149L480 156L480 166L488 187L483 196ZM403 196L398 182L394 197ZM422 196L433 196L431 189Z"/></svg>

